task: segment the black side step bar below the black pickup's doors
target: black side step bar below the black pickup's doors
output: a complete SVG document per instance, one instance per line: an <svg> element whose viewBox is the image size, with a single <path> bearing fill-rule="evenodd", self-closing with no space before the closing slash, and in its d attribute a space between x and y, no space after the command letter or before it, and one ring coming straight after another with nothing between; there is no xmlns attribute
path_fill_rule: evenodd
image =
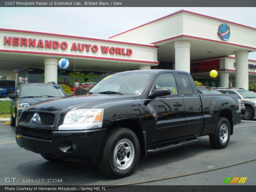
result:
<svg viewBox="0 0 256 192"><path fill-rule="evenodd" d="M190 139L190 140L179 141L179 142L173 143L171 145L166 145L166 146L163 146L163 147L148 149L147 154L155 154L155 153L159 153L159 152L162 152L162 151L167 151L167 150L178 148L178 147L183 147L183 146L186 146L186 145L196 143L197 141L198 141L197 138L193 138L193 139Z"/></svg>

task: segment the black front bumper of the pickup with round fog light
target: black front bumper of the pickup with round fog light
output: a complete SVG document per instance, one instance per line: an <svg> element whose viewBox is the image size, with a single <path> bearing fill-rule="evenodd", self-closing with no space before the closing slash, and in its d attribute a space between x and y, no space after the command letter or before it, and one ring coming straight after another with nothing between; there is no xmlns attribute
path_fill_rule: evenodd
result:
<svg viewBox="0 0 256 192"><path fill-rule="evenodd" d="M32 131L31 131L32 130ZM98 160L102 141L107 129L52 131L47 137L42 137L49 130L16 127L17 144L35 153L60 159ZM41 135L40 135L41 134Z"/></svg>

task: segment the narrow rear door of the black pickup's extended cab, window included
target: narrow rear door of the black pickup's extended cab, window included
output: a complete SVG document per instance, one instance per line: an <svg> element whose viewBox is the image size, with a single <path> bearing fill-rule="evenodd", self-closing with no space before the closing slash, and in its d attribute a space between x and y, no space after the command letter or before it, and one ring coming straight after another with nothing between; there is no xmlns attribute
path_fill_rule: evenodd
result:
<svg viewBox="0 0 256 192"><path fill-rule="evenodd" d="M194 82L185 73L177 73L180 94L184 101L186 131L184 136L200 134L203 122L201 100L195 91Z"/></svg>

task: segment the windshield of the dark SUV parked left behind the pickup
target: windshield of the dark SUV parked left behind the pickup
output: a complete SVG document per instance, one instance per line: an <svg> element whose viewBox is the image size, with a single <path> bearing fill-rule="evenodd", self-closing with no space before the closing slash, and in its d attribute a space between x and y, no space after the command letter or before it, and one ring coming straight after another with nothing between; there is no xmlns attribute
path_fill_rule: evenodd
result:
<svg viewBox="0 0 256 192"><path fill-rule="evenodd" d="M20 98L22 97L65 97L66 95L62 92L57 85L24 85L21 90Z"/></svg>

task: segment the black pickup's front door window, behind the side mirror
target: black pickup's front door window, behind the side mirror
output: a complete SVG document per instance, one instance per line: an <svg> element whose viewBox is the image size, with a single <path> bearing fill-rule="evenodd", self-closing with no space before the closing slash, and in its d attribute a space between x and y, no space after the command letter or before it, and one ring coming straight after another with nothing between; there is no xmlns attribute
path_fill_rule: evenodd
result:
<svg viewBox="0 0 256 192"><path fill-rule="evenodd" d="M168 88L171 90L171 95L178 95L176 81L172 73L164 73L157 78L154 89L159 88Z"/></svg>

